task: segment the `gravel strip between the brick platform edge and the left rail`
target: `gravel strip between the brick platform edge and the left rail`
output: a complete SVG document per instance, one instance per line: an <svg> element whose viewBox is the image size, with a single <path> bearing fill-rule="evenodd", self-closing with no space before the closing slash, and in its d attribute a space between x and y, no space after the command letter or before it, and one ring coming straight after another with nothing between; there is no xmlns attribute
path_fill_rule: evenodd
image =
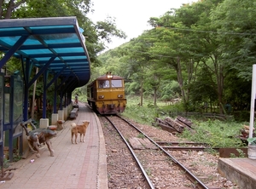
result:
<svg viewBox="0 0 256 189"><path fill-rule="evenodd" d="M154 188L142 166L131 152L131 147L119 135L108 117L99 117L103 122L102 130L106 143L108 188Z"/></svg>

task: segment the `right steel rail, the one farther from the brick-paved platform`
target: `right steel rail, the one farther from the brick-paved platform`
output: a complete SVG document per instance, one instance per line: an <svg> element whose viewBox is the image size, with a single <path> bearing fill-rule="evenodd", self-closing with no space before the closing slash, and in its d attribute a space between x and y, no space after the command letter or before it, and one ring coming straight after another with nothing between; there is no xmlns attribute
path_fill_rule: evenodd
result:
<svg viewBox="0 0 256 189"><path fill-rule="evenodd" d="M208 189L208 187L201 182L201 180L199 180L195 175L193 175L189 169L187 169L186 167L183 166L182 163L179 163L177 161L176 158L172 157L172 155L168 152L166 152L166 150L164 148L162 148L161 146L159 146L154 140L152 140L150 137L148 137L148 135L144 134L142 130L138 129L135 125L133 125L132 123L130 123L129 121L127 121L124 117L120 117L119 115L116 115L117 117L121 118L122 120L124 120L126 123L131 124L132 127L134 127L134 129L137 129L137 131L139 131L140 133L142 133L145 137L148 138L148 140L150 140L151 142L154 143L155 146L158 146L160 148L161 151L165 152L167 156L169 156L170 158L172 158L172 161L174 163L176 163L181 169L183 169L184 173L189 177L189 180L191 180L193 183L195 183L196 186L198 186L201 189Z"/></svg>

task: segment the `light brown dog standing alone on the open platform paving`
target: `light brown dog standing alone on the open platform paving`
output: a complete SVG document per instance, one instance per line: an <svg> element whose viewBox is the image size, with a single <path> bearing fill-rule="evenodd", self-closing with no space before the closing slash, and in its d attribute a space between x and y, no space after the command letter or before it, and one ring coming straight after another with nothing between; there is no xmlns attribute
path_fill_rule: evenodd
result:
<svg viewBox="0 0 256 189"><path fill-rule="evenodd" d="M83 124L77 125L76 123L71 123L71 142L73 144L73 135L75 135L75 143L78 144L77 138L80 134L80 142L82 142L82 136L83 136L83 142L84 142L84 136L86 133L86 129L88 127L90 122L84 121Z"/></svg>

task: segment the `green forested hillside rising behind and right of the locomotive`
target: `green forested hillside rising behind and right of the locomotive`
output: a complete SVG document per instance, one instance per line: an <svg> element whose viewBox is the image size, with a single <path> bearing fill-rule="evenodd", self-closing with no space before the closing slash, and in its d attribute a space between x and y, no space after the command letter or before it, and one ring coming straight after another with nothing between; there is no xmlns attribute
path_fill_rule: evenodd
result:
<svg viewBox="0 0 256 189"><path fill-rule="evenodd" d="M253 0L204 0L148 18L144 31L99 55L96 77L125 77L126 94L182 99L185 111L249 111L255 62ZM136 28L135 28L136 29Z"/></svg>

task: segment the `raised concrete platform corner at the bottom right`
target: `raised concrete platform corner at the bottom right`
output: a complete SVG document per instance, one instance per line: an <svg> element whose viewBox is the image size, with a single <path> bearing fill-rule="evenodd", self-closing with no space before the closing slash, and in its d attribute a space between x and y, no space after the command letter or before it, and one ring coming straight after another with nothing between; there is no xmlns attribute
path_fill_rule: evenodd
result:
<svg viewBox="0 0 256 189"><path fill-rule="evenodd" d="M218 173L241 189L256 188L256 160L249 158L219 158Z"/></svg>

